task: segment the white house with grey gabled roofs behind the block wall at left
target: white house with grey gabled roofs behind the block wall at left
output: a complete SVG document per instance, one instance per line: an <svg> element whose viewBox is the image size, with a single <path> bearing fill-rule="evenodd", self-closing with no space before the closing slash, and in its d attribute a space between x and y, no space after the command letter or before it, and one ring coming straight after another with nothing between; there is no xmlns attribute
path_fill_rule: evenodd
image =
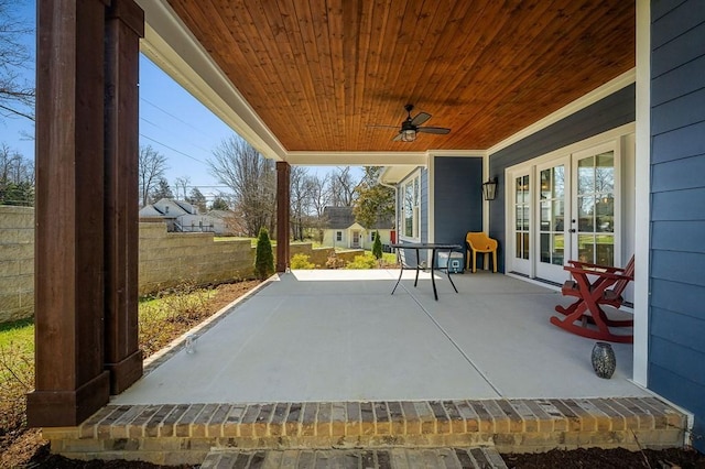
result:
<svg viewBox="0 0 705 469"><path fill-rule="evenodd" d="M162 198L140 209L140 218L163 219L167 231L231 234L225 214L223 210L212 210L202 215L195 205L171 198Z"/></svg>

